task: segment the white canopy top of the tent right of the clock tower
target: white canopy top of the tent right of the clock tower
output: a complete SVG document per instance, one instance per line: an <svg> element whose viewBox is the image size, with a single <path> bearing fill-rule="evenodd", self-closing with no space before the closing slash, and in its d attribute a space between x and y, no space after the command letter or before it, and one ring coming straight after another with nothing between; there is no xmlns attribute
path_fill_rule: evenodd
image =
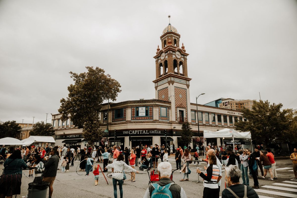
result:
<svg viewBox="0 0 297 198"><path fill-rule="evenodd" d="M251 139L251 132L238 132L234 129L222 129L219 131L208 131L204 130L203 132L204 138L247 138Z"/></svg>

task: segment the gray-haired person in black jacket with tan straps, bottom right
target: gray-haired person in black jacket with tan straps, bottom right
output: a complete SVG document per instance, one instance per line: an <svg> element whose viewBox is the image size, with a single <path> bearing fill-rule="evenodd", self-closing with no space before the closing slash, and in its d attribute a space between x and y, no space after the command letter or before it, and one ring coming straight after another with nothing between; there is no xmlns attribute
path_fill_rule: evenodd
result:
<svg viewBox="0 0 297 198"><path fill-rule="evenodd" d="M223 190L222 198L259 198L252 187L240 184L239 179L241 171L236 165L229 165L226 167L225 173L227 181L231 186Z"/></svg>

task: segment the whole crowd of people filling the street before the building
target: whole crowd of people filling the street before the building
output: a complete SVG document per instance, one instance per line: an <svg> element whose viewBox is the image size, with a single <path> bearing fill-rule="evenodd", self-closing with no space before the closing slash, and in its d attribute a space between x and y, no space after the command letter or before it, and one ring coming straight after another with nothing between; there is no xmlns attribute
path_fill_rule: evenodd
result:
<svg viewBox="0 0 297 198"><path fill-rule="evenodd" d="M172 146L172 147L171 147ZM198 148L200 148L197 145ZM174 151L174 152L173 152ZM219 197L219 191L222 184L222 169L225 169L225 189L222 197L232 197L233 193L239 197L246 195L247 197L258 197L253 189L259 189L258 179L265 179L267 173L270 177L268 180L277 179L276 162L271 149L266 151L260 150L258 146L254 151L250 149L241 149L240 147L234 152L232 148L221 147L205 147L207 162L205 170L196 170L204 181L203 198ZM135 170L139 166L139 170L147 170L153 168L159 174L160 181L149 186L144 197L151 197L158 189L158 186L166 186L167 190L172 194L178 194L177 197L186 197L185 191L177 184L170 180L172 166L168 162L168 156L174 154L176 161L176 170L184 173L180 181L189 181L189 164L194 161L198 162L201 157L200 150L196 148L193 159L190 154L189 147L181 147L173 150L173 145L166 148L165 145L155 144L154 147L139 145L131 149L121 149L120 146L105 147L85 146L83 149L77 147L67 147L66 144L61 146L38 147L27 146L24 148L15 148L12 152L6 151L5 146L0 150L0 157L4 159L4 171L0 179L0 198L12 197L14 194L20 194L20 185L22 178L22 169L30 169L29 176L35 175L34 183L42 181L49 183L49 198L53 194L53 183L56 178L57 171L61 173L69 172L70 167L74 167L73 161L79 160L80 171L85 171L85 175L89 176L90 172L94 174L95 186L98 184L99 165L94 165L95 158L97 162L103 163L103 172L111 169L111 177L113 179L114 197L117 197L117 185L119 185L120 197L123 197L122 185L127 180L126 173L131 173L129 181L135 182L138 173ZM297 180L297 149L291 154L290 159L293 162L293 171L295 180ZM159 159L161 163L158 164ZM198 162L199 163L199 162ZM258 175L258 167L261 175ZM125 173L126 171L126 173ZM259 174L260 174L259 173ZM249 175L253 178L253 186L249 185ZM242 177L242 183L239 178ZM224 181L224 180L223 180ZM165 188L165 190L166 190ZM163 193L163 192L161 192ZM26 197L26 196L24 196Z"/></svg>

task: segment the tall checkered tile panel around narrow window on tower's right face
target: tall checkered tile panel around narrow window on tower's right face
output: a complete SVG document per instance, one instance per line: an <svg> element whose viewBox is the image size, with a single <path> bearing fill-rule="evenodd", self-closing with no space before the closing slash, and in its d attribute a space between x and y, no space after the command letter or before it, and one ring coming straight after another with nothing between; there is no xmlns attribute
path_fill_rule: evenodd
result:
<svg viewBox="0 0 297 198"><path fill-rule="evenodd" d="M188 108L187 108L187 90L179 87L174 87L175 109L185 108L184 122L187 122ZM175 120L178 121L177 113L175 114Z"/></svg>

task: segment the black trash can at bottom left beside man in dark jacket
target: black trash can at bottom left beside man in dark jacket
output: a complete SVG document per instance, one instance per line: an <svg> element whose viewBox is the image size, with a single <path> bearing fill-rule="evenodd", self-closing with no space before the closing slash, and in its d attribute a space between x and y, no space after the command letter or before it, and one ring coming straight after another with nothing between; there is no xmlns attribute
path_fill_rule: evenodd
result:
<svg viewBox="0 0 297 198"><path fill-rule="evenodd" d="M31 182L28 184L28 198L46 198L48 192L48 186L50 183L42 181L40 183Z"/></svg>

